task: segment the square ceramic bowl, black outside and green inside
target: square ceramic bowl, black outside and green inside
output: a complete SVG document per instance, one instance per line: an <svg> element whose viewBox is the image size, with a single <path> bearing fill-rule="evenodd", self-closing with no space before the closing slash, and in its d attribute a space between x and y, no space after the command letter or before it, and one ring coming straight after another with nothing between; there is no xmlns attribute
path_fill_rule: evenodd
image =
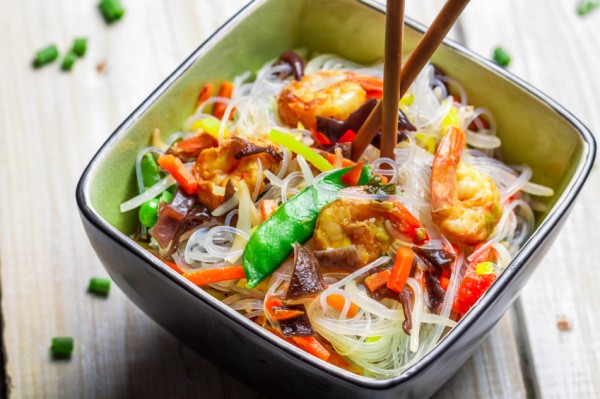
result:
<svg viewBox="0 0 600 399"><path fill-rule="evenodd" d="M386 380L322 362L263 330L194 286L137 245L135 158L151 132L173 132L194 111L201 82L256 70L285 50L305 47L368 63L383 58L384 9L359 0L255 0L169 76L110 136L77 186L86 233L105 268L148 316L203 356L259 391L289 397L427 397L473 353L517 297L554 241L595 156L591 133L564 108L510 73L445 41L433 57L462 82L470 102L496 116L505 161L528 164L555 195L535 233L479 304L423 359ZM404 51L424 27L406 22Z"/></svg>

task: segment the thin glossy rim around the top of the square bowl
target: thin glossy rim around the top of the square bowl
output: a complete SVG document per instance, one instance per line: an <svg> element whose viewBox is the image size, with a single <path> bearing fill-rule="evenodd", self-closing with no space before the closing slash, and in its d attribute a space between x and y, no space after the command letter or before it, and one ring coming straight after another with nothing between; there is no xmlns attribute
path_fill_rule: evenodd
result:
<svg viewBox="0 0 600 399"><path fill-rule="evenodd" d="M215 42L218 42L222 36L227 34L234 26L240 23L248 14L253 10L259 8L261 5L268 3L273 0L250 0L245 6L243 6L235 15L228 19L221 27L219 27L212 35L210 35L196 50L194 50L151 94L127 117L125 120L115 129L115 131L109 136L109 138L102 144L100 149L94 154L89 164L84 169L79 182L76 187L76 202L82 217L94 225L98 230L102 231L108 237L113 239L116 243L123 246L131 253L136 255L138 258L143 260L145 263L150 264L156 268L158 272L170 279L173 283L186 290L189 294L194 296L198 300L204 301L207 305L218 311L219 313L229 317L232 321L243 327L247 332L256 334L262 339L273 344L275 347L283 350L289 355L297 357L299 360L308 363L310 366L316 367L319 371L327 373L331 377L336 379L350 382L356 386L374 389L374 390L385 390L393 386L397 386L403 382L410 380L413 376L418 375L423 370L428 368L433 360L440 356L442 353L449 350L453 343L463 334L468 331L471 326L479 320L486 310L493 303L493 299L496 298L511 282L521 274L527 265L527 261L535 254L538 246L549 236L550 232L560 222L562 217L565 215L569 207L573 204L576 196L580 192L585 180L589 176L592 169L592 164L596 154L596 142L594 136L590 130L577 119L573 114L567 111L563 106L552 100L546 94L540 90L534 88L529 83L525 82L521 78L513 75L506 69L498 66L492 61L484 58L481 55L468 50L463 45L455 42L452 39L444 39L443 46L450 50L479 63L481 66L490 70L491 73L496 73L511 83L526 91L531 96L542 101L548 105L554 112L560 117L566 120L572 125L575 130L580 134L583 144L581 159L579 160L578 166L574 172L573 177L564 188L563 193L557 199L553 208L547 214L546 218L540 223L537 230L529 237L525 244L521 247L517 255L512 259L509 266L502 272L496 282L489 288L486 295L484 295L471 311L469 311L458 325L451 329L440 341L419 361L409 367L401 374L391 377L388 379L375 379L371 377L365 377L350 373L349 371L343 370L339 367L333 366L327 362L319 360L313 356L307 355L299 348L289 344L288 342L280 339L274 334L269 333L255 323L247 320L237 312L233 311L226 305L223 305L220 301L207 294L204 290L198 289L197 286L191 282L185 281L179 274L174 272L171 268L166 266L158 258L152 256L144 248L135 243L128 236L117 230L115 227L106 222L92 207L89 201L89 186L92 181L95 172L97 171L102 158L107 154L111 148L117 143L117 141L125 136L128 128L133 125L137 119L139 119L154 102L180 77L182 76L192 64L201 57ZM378 12L385 13L385 5L376 2L376 0L348 0L361 3L369 8L372 8ZM411 18L406 18L405 25L416 32L422 34L425 32L426 27Z"/></svg>

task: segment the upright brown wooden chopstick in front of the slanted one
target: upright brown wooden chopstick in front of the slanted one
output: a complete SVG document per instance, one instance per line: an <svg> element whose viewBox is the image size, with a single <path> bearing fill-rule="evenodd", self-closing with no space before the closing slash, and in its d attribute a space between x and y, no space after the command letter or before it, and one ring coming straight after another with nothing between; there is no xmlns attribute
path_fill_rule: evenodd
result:
<svg viewBox="0 0 600 399"><path fill-rule="evenodd" d="M394 159L398 141L398 101L402 69L404 0L388 0L385 17L385 60L383 63L383 103L381 156Z"/></svg>

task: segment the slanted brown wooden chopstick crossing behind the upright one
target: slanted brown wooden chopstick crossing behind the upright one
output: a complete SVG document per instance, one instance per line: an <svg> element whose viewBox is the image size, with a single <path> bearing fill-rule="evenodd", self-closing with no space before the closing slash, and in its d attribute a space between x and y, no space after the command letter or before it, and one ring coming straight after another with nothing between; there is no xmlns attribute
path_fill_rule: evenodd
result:
<svg viewBox="0 0 600 399"><path fill-rule="evenodd" d="M427 29L421 38L419 44L417 44L417 47L402 67L400 76L400 97L406 93L410 85L414 82L417 75L419 75L419 72L421 72L423 67L427 64L468 3L469 0L448 0L446 4L444 4L444 7L442 7L429 29ZM373 109L352 141L351 156L353 161L358 161L363 152L367 149L367 146L373 141L373 138L381 126L383 115L381 103L382 102L380 101Z"/></svg>

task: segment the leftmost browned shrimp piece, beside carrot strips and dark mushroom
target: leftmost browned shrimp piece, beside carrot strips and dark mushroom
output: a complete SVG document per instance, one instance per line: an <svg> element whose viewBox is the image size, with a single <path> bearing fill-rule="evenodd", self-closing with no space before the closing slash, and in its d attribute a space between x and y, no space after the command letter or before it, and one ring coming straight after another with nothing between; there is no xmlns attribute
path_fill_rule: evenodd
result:
<svg viewBox="0 0 600 399"><path fill-rule="evenodd" d="M263 176L259 176L258 162L263 171L274 171L281 159L281 154L272 146L261 147L239 137L203 150L192 168L198 181L198 201L213 211L224 202L226 191L231 194L241 180L246 182L250 192L257 184L262 190L264 181Z"/></svg>

